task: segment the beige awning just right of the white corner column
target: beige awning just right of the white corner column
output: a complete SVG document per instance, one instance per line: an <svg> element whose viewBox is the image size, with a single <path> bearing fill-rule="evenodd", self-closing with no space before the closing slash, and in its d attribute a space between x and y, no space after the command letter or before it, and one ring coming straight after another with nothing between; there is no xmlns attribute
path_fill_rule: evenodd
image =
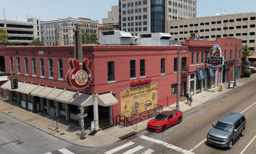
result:
<svg viewBox="0 0 256 154"><path fill-rule="evenodd" d="M112 95L112 93L98 95L98 105L100 106L111 106L118 103L118 100Z"/></svg>

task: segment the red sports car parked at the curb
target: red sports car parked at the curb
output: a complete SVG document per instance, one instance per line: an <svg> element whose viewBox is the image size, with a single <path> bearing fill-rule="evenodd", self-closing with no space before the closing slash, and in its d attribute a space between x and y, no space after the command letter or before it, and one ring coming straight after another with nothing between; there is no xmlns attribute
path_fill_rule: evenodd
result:
<svg viewBox="0 0 256 154"><path fill-rule="evenodd" d="M155 132L165 131L166 128L172 125L180 124L182 116L181 111L163 111L159 113L155 119L151 119L148 122L147 130Z"/></svg>

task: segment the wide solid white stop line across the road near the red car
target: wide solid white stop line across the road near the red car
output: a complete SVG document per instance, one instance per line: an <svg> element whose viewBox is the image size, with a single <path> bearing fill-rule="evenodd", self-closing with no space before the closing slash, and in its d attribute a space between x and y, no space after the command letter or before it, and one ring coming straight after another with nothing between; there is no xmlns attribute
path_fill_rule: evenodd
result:
<svg viewBox="0 0 256 154"><path fill-rule="evenodd" d="M185 149L182 149L180 147L177 147L175 145L172 145L172 144L168 144L166 142L163 142L163 141L160 141L160 140L157 140L157 139L153 139L153 138L150 138L150 137L147 137L147 136L140 136L141 139L144 139L144 140L148 140L148 141L151 141L151 142L154 142L154 143L157 143L157 144L160 144L160 145L163 145L165 147L168 147L170 149L173 149L173 150L176 150L176 151L179 151L181 153L184 153L184 154L194 154L193 152L191 151L188 151L188 150L185 150Z"/></svg>

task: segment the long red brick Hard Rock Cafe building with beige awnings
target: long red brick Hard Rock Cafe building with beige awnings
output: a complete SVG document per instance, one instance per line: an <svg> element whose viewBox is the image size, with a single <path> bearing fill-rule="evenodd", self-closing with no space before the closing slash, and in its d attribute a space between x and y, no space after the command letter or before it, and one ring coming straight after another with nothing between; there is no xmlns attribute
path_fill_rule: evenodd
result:
<svg viewBox="0 0 256 154"><path fill-rule="evenodd" d="M82 104L90 108L88 118L96 120L97 130L99 119L106 118L114 125L119 114L134 115L135 102L139 103L138 113L156 104L165 107L176 103L178 47L179 100L187 91L195 95L233 81L236 44L239 78L242 40L236 38L185 40L182 46L82 46L92 72L92 82L84 89L66 83L68 61L75 58L74 46L0 46L6 72L14 71L19 81L18 89L1 81L0 94L32 112L47 112L53 107L56 115L66 120L76 120L76 108ZM214 45L222 49L229 71L223 65L213 67L215 77L210 78L207 56ZM184 47L189 48L189 55ZM199 80L197 69L205 71L205 79Z"/></svg>

